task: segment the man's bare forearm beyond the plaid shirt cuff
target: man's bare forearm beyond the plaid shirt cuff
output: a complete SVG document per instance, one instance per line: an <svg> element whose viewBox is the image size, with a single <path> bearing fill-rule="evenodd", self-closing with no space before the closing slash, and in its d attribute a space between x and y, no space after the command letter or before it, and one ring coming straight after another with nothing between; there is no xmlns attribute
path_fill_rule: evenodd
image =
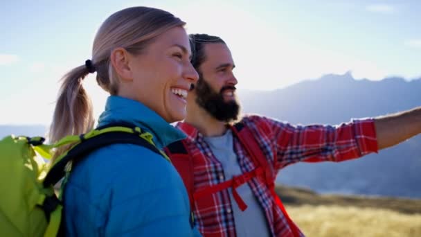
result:
<svg viewBox="0 0 421 237"><path fill-rule="evenodd" d="M375 118L379 150L421 133L421 107Z"/></svg>

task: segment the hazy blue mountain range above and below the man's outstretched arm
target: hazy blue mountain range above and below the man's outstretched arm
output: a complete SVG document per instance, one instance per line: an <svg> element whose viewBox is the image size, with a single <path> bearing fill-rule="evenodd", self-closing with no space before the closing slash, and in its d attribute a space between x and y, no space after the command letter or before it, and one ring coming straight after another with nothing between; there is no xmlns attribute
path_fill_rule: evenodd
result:
<svg viewBox="0 0 421 237"><path fill-rule="evenodd" d="M239 90L239 96L246 113L292 124L339 124L421 106L421 78L370 81L346 73L274 91ZM421 198L421 136L341 164L294 164L281 170L277 181L321 193Z"/></svg>

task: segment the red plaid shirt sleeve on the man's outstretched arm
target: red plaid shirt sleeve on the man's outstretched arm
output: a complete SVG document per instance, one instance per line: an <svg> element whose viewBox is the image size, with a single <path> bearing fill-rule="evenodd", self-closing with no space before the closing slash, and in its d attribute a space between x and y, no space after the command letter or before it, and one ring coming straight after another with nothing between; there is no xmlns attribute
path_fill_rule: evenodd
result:
<svg viewBox="0 0 421 237"><path fill-rule="evenodd" d="M346 161L377 152L373 119L352 120L341 125L291 125L258 116L267 141L276 150L276 169L298 161ZM263 135L265 136L265 135ZM264 140L264 138L261 138Z"/></svg>

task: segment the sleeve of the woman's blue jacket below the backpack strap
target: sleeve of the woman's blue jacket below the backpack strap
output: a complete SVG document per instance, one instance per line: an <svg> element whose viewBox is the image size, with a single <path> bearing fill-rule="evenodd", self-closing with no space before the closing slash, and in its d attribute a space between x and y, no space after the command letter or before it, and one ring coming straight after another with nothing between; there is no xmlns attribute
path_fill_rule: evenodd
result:
<svg viewBox="0 0 421 237"><path fill-rule="evenodd" d="M105 236L192 236L188 196L174 167L145 148L126 153L127 166L110 187Z"/></svg>

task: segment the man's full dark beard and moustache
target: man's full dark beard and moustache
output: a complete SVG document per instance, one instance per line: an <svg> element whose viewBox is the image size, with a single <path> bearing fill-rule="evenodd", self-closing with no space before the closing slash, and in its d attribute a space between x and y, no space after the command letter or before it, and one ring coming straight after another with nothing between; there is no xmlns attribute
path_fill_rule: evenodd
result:
<svg viewBox="0 0 421 237"><path fill-rule="evenodd" d="M195 85L196 103L218 121L230 123L238 119L240 105L237 98L228 102L224 101L222 94L226 89L235 90L235 87L222 87L220 93L217 93L208 82L199 78Z"/></svg>

